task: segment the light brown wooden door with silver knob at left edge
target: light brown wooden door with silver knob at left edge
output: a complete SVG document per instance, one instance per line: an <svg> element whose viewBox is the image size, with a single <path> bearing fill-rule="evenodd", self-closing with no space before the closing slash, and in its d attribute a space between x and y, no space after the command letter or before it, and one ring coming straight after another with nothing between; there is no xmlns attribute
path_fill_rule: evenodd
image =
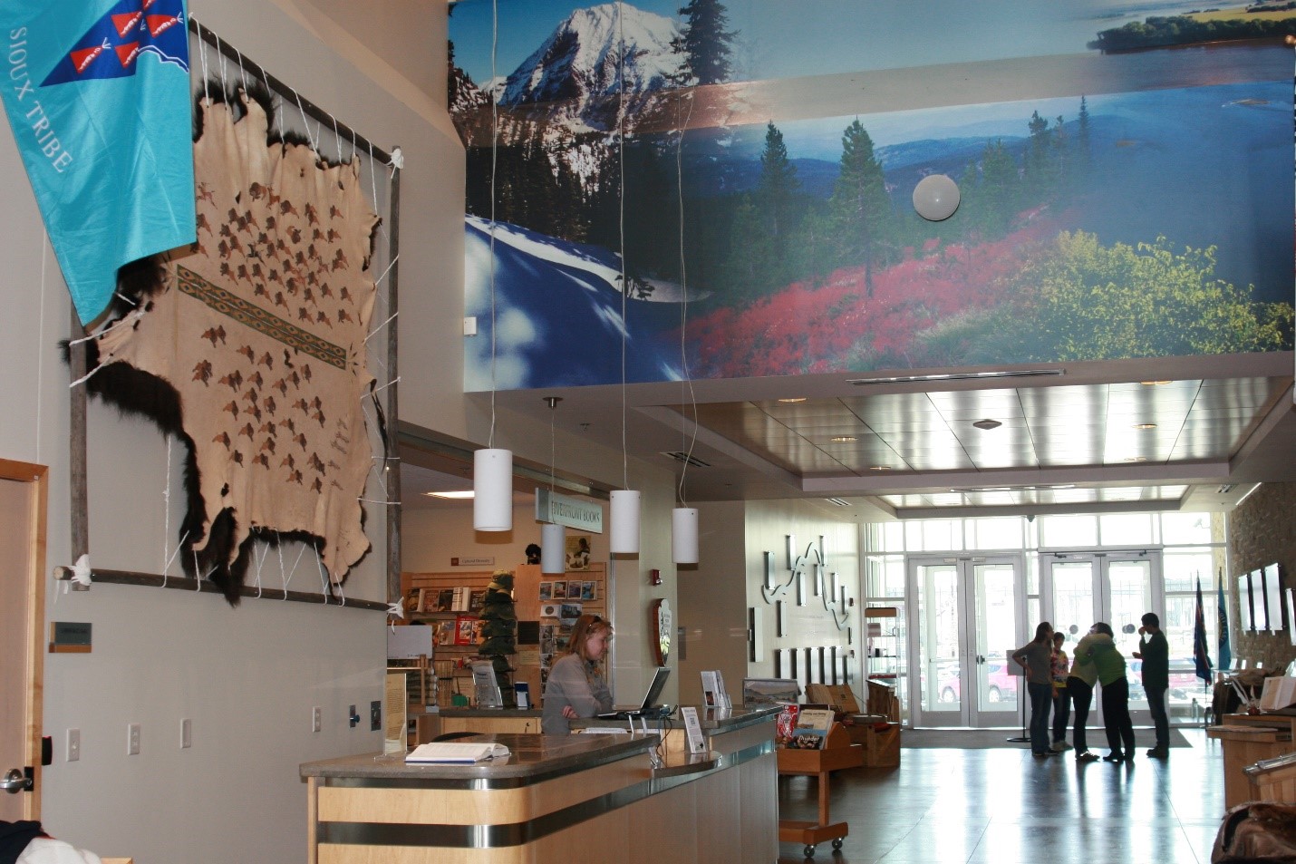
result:
<svg viewBox="0 0 1296 864"><path fill-rule="evenodd" d="M0 820L40 819L45 467L0 459Z"/></svg>

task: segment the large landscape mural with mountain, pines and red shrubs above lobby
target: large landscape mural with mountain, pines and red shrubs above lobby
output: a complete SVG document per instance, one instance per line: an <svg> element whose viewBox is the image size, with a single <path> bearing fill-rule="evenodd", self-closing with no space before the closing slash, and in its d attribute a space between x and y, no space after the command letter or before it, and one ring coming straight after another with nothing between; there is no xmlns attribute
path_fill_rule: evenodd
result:
<svg viewBox="0 0 1296 864"><path fill-rule="evenodd" d="M1290 350L1296 10L968 5L456 4L465 388Z"/></svg>

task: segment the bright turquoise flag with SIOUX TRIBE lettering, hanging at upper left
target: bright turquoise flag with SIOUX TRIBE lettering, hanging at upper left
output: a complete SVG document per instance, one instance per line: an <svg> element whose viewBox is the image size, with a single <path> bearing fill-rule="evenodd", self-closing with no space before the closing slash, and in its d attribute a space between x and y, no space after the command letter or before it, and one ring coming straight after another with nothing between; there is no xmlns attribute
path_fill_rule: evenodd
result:
<svg viewBox="0 0 1296 864"><path fill-rule="evenodd" d="M184 0L4 0L4 106L83 324L194 240Z"/></svg>

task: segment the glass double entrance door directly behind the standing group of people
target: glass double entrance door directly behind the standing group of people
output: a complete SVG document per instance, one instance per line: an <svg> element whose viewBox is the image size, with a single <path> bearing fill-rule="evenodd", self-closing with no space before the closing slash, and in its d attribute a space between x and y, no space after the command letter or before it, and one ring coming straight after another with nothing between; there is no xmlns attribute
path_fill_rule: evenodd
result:
<svg viewBox="0 0 1296 864"><path fill-rule="evenodd" d="M1161 608L1161 553L1047 553L1043 560L1047 620L1067 634L1068 655L1095 621L1107 621L1116 634L1116 647L1125 655L1130 685L1130 715L1134 725L1151 723L1143 678L1134 653L1139 650L1138 628L1143 612ZM1099 699L1094 699L1099 715ZM1093 715L1091 715L1093 716Z"/></svg>

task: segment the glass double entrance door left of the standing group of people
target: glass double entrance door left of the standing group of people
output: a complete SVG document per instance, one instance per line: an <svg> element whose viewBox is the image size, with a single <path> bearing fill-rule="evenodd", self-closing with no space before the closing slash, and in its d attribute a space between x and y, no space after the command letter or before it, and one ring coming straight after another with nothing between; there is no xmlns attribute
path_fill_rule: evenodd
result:
<svg viewBox="0 0 1296 864"><path fill-rule="evenodd" d="M927 726L1011 726L1023 690L1008 653L1021 640L1023 577L1015 557L912 558L915 620L910 656L914 723Z"/></svg>

